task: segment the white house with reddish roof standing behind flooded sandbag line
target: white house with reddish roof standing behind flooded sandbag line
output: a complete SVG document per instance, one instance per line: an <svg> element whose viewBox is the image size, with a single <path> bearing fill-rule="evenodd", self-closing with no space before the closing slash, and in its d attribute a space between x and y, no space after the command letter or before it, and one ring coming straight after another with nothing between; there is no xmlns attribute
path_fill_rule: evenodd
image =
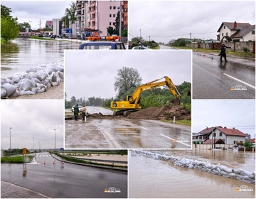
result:
<svg viewBox="0 0 256 199"><path fill-rule="evenodd" d="M245 143L245 136L246 135L244 133L235 128L228 129L227 127L207 127L198 134L193 134L192 140L196 141L197 137L199 142L203 141L203 144L213 144L215 141L218 141L219 144L237 144L240 142Z"/></svg>

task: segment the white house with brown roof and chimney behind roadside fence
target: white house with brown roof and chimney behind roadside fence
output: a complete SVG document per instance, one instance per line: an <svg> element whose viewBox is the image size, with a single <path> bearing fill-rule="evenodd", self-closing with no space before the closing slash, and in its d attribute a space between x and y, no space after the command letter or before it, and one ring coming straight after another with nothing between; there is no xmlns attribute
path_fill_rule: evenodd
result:
<svg viewBox="0 0 256 199"><path fill-rule="evenodd" d="M250 23L223 22L217 32L221 42L255 41L255 25Z"/></svg>

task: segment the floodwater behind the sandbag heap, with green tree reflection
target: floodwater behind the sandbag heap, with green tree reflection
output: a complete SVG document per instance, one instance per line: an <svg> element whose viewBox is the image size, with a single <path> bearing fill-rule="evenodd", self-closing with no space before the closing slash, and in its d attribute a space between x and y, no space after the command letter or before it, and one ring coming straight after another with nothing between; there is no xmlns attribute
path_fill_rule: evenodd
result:
<svg viewBox="0 0 256 199"><path fill-rule="evenodd" d="M1 44L1 77L26 72L38 65L64 60L65 49L78 49L77 42L16 38Z"/></svg>

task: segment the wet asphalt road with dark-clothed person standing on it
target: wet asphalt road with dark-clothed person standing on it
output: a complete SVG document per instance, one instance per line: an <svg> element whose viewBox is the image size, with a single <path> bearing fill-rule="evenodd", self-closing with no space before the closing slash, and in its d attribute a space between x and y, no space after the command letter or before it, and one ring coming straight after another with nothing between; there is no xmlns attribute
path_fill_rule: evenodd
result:
<svg viewBox="0 0 256 199"><path fill-rule="evenodd" d="M255 99L255 60L227 59L193 53L193 99Z"/></svg>

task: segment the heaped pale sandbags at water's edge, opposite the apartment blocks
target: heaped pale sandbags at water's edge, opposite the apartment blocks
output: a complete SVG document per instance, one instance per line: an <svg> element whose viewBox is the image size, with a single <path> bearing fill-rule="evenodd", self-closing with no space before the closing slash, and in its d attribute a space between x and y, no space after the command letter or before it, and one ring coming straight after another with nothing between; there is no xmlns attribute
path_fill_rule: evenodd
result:
<svg viewBox="0 0 256 199"><path fill-rule="evenodd" d="M64 63L39 65L26 72L1 77L1 99L21 95L36 95L58 86L64 80Z"/></svg>

